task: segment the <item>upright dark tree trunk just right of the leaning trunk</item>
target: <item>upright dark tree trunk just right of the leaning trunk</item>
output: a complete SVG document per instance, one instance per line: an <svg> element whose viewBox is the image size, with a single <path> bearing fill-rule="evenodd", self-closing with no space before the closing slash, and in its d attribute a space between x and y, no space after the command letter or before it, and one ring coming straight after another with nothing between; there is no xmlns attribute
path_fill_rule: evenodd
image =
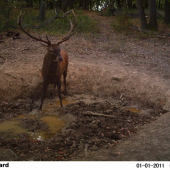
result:
<svg viewBox="0 0 170 170"><path fill-rule="evenodd" d="M149 0L149 26L152 29L158 29L156 16L156 0Z"/></svg>

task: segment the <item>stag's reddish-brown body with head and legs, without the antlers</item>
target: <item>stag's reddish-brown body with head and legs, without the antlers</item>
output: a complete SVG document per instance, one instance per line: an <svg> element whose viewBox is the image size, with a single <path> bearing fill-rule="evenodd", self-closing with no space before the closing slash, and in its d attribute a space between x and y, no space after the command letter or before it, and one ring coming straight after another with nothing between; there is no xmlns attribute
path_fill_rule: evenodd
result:
<svg viewBox="0 0 170 170"><path fill-rule="evenodd" d="M66 77L68 68L68 54L59 48L54 48L51 52L47 52L44 57L43 67L42 67L42 77L43 77L43 96L41 100L41 105L39 109L42 109L43 101L49 84L54 84L54 91L57 86L58 97L60 99L60 106L62 107L61 100L61 76L64 77L64 86L66 94Z"/></svg>

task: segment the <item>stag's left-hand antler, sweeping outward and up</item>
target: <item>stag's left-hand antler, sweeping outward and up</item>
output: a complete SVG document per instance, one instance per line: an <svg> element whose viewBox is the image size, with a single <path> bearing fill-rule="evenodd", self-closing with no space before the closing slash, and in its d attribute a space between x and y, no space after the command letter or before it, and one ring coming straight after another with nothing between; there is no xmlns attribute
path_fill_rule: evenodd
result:
<svg viewBox="0 0 170 170"><path fill-rule="evenodd" d="M22 18L21 18L22 17ZM22 15L22 11L20 12L20 15L19 15L19 17L18 17L18 25L19 25L19 27L21 28L21 30L23 31L23 32L25 32L25 34L27 34L29 37L31 37L32 39L34 39L34 40L37 40L37 41L41 41L41 42L43 42L43 43L46 43L46 44L51 44L51 42L49 41L49 39L48 39L48 37L47 37L47 35L46 35L46 39L47 39L47 41L45 41L45 40L43 40L42 38L37 38L37 37L34 37L33 35L31 35L28 31L26 31L23 27L22 27L22 21L23 21L23 18L24 18L24 15Z"/></svg>

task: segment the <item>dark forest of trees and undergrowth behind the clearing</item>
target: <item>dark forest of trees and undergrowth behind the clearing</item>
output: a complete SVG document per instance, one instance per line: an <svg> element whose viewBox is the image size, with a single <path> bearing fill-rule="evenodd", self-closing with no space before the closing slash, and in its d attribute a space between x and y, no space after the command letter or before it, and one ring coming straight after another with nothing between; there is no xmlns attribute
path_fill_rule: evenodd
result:
<svg viewBox="0 0 170 170"><path fill-rule="evenodd" d="M170 0L0 0L0 32L16 29L17 17L20 11L24 10L26 13L24 26L28 29L39 31L41 28L42 31L63 33L64 27L69 29L67 21L57 20L47 27L55 18L54 9L60 17L63 12L75 9L78 32L98 31L96 21L85 15L85 11L116 16L117 25L111 23L115 30L122 30L120 29L122 27L123 30L128 30L128 27L133 26L132 18L139 18L133 27L137 30L158 31L162 23L166 28L169 28L170 23ZM56 23L58 24L55 25Z"/></svg>

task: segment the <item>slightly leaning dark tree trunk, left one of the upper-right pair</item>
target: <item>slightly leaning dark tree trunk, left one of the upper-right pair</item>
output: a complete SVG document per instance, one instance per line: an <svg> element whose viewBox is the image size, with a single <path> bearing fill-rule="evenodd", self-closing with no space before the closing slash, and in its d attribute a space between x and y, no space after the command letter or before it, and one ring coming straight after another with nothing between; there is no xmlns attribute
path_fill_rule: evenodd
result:
<svg viewBox="0 0 170 170"><path fill-rule="evenodd" d="M137 4L138 12L139 12L141 29L146 30L148 28L148 26L147 26L145 12L144 12L144 8L143 8L143 2L142 2L142 0L136 0L136 4Z"/></svg>

